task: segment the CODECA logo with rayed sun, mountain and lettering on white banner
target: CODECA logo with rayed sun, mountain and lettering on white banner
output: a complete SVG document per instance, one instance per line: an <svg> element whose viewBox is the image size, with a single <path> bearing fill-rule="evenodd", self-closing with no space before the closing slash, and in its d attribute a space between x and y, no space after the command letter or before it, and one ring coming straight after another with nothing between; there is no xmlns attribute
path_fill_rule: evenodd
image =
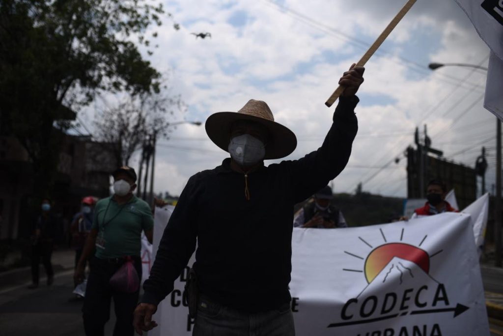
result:
<svg viewBox="0 0 503 336"><path fill-rule="evenodd" d="M340 313L343 322L331 323L328 327L373 323L405 315L454 312L456 317L468 309L459 303L452 306L444 284L430 275L430 260L443 249L430 254L421 248L428 235L414 246L402 242L404 229L401 230L399 241L388 241L382 229L379 231L382 237L380 245L372 245L364 238L358 237L365 245L364 248L369 250L366 257L358 252L344 251L352 258L363 260L364 264L362 270L354 268L343 268L343 270L363 273L368 285L357 297L349 299L343 306ZM439 324L413 326L410 330L406 327L399 330L388 328L383 330L382 334L416 334L414 328L417 328L417 332L421 332L418 334L421 335L441 334ZM372 335L381 334L381 331L375 332L379 333Z"/></svg>

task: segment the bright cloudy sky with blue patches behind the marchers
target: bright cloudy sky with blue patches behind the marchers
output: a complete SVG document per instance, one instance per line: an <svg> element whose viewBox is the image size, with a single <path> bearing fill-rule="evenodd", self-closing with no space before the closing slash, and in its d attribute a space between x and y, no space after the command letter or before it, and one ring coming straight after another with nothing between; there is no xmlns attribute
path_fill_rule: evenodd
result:
<svg viewBox="0 0 503 336"><path fill-rule="evenodd" d="M295 132L298 146L287 159L297 159L321 145L333 113L325 100L404 3L170 1L165 9L181 29L175 31L166 19L156 29L159 48L146 57L171 74L172 93L181 94L187 105L173 121L204 122L211 113L237 111L249 99L264 100L276 121ZM210 32L211 38L195 38L193 32ZM333 181L334 191L353 192L363 182L365 191L406 197L403 152L413 144L415 127L423 130L425 124L433 147L450 160L473 166L486 147L490 190L495 117L482 106L485 74L427 68L432 61L486 66L488 56L453 0L419 0L366 65L356 110L358 135L348 166ZM87 124L93 117L90 111L82 116ZM155 191L178 195L191 175L227 156L209 141L204 126L180 125L170 139L159 141Z"/></svg>

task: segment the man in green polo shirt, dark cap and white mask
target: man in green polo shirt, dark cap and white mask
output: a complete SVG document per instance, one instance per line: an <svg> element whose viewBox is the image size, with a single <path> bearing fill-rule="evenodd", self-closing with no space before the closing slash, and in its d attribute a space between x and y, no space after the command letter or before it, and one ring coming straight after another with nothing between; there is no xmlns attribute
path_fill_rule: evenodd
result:
<svg viewBox="0 0 503 336"><path fill-rule="evenodd" d="M110 318L111 298L117 317L114 336L133 335L133 311L138 302L139 286L129 293L113 288L109 282L127 259L133 260L141 279L141 231L152 243L153 217L148 204L133 195L136 189L134 169L123 166L112 175L114 195L96 204L93 226L74 274L75 283L81 283L85 261L96 248L82 307L88 336L103 335L105 323Z"/></svg>

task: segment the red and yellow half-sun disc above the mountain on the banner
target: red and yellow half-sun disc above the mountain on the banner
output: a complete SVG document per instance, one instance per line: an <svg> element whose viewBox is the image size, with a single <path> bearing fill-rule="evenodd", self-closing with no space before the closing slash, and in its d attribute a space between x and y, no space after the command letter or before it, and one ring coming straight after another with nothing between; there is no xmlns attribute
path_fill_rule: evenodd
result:
<svg viewBox="0 0 503 336"><path fill-rule="evenodd" d="M423 268L426 273L430 271L430 257L421 248L404 243L384 244L370 252L365 260L365 278L369 284L393 257L412 261Z"/></svg>

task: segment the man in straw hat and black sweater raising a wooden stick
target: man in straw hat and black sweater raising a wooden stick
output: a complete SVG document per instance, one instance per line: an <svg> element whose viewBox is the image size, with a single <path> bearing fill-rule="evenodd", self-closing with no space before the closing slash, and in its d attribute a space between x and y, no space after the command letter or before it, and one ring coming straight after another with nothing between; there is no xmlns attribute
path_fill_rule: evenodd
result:
<svg viewBox="0 0 503 336"><path fill-rule="evenodd" d="M180 195L134 313L139 334L157 325L152 314L173 290L196 240L198 295L189 296L189 303L197 303L193 335L295 334L288 290L293 205L346 166L363 72L353 64L344 73L339 83L346 90L323 145L299 160L264 165L288 156L297 141L263 101L208 117L208 136L230 158L192 176Z"/></svg>

